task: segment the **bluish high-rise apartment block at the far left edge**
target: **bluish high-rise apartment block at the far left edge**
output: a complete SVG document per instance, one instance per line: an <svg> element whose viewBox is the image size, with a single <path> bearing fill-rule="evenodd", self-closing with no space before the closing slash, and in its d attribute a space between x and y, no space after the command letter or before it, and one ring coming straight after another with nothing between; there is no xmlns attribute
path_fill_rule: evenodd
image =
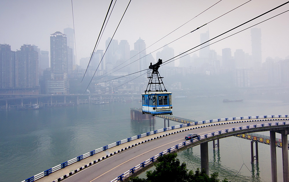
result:
<svg viewBox="0 0 289 182"><path fill-rule="evenodd" d="M0 89L15 87L15 51L9 44L0 44Z"/></svg>

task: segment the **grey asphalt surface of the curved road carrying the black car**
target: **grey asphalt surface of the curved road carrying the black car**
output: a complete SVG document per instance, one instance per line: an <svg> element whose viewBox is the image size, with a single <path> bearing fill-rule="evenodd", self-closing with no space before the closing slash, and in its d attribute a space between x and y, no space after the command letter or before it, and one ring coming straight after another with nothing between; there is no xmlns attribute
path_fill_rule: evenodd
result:
<svg viewBox="0 0 289 182"><path fill-rule="evenodd" d="M113 155L103 161L100 161L72 176L64 179L63 181L111 181L116 177L120 176L127 170L137 166L138 164L144 162L145 160L158 155L159 153L176 146L182 142L185 142L184 136L187 133L197 133L199 135L210 134L216 131L221 131L225 129L231 129L236 127L248 126L248 125L258 125L265 123L275 123L282 122L281 120L276 121L254 121L254 122L240 122L216 125L210 127L197 128L186 132L176 133L173 135L168 135L163 138L152 140L128 149L125 152ZM216 122L218 123L218 122ZM212 123L214 124L214 123ZM206 124L205 124L206 125ZM199 125L201 126L201 125ZM284 126L284 125L283 125ZM285 125L288 127L288 125ZM195 126L191 126L193 128ZM186 127L187 128L187 127ZM242 131L240 131L242 132Z"/></svg>

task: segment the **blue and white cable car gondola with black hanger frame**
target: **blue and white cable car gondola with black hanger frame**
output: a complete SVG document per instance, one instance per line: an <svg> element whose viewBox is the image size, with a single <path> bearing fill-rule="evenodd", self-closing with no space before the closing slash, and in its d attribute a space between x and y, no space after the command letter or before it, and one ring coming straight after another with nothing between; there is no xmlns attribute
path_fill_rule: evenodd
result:
<svg viewBox="0 0 289 182"><path fill-rule="evenodd" d="M149 83L147 89L142 94L142 114L160 115L160 114L173 114L172 106L172 93L167 92L158 72L158 68L162 64L159 59L154 65L149 66L147 78Z"/></svg>

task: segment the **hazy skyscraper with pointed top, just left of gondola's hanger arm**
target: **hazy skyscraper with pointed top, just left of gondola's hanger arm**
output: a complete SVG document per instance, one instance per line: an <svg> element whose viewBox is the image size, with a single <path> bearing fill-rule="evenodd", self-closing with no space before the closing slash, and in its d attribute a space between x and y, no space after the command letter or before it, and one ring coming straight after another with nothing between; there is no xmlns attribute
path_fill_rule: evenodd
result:
<svg viewBox="0 0 289 182"><path fill-rule="evenodd" d="M134 43L134 50L137 50L139 52L139 58L138 62L140 62L140 70L147 69L149 64L147 63L147 58L144 57L147 55L146 49L146 44L144 43L144 40L139 38L135 43Z"/></svg>

